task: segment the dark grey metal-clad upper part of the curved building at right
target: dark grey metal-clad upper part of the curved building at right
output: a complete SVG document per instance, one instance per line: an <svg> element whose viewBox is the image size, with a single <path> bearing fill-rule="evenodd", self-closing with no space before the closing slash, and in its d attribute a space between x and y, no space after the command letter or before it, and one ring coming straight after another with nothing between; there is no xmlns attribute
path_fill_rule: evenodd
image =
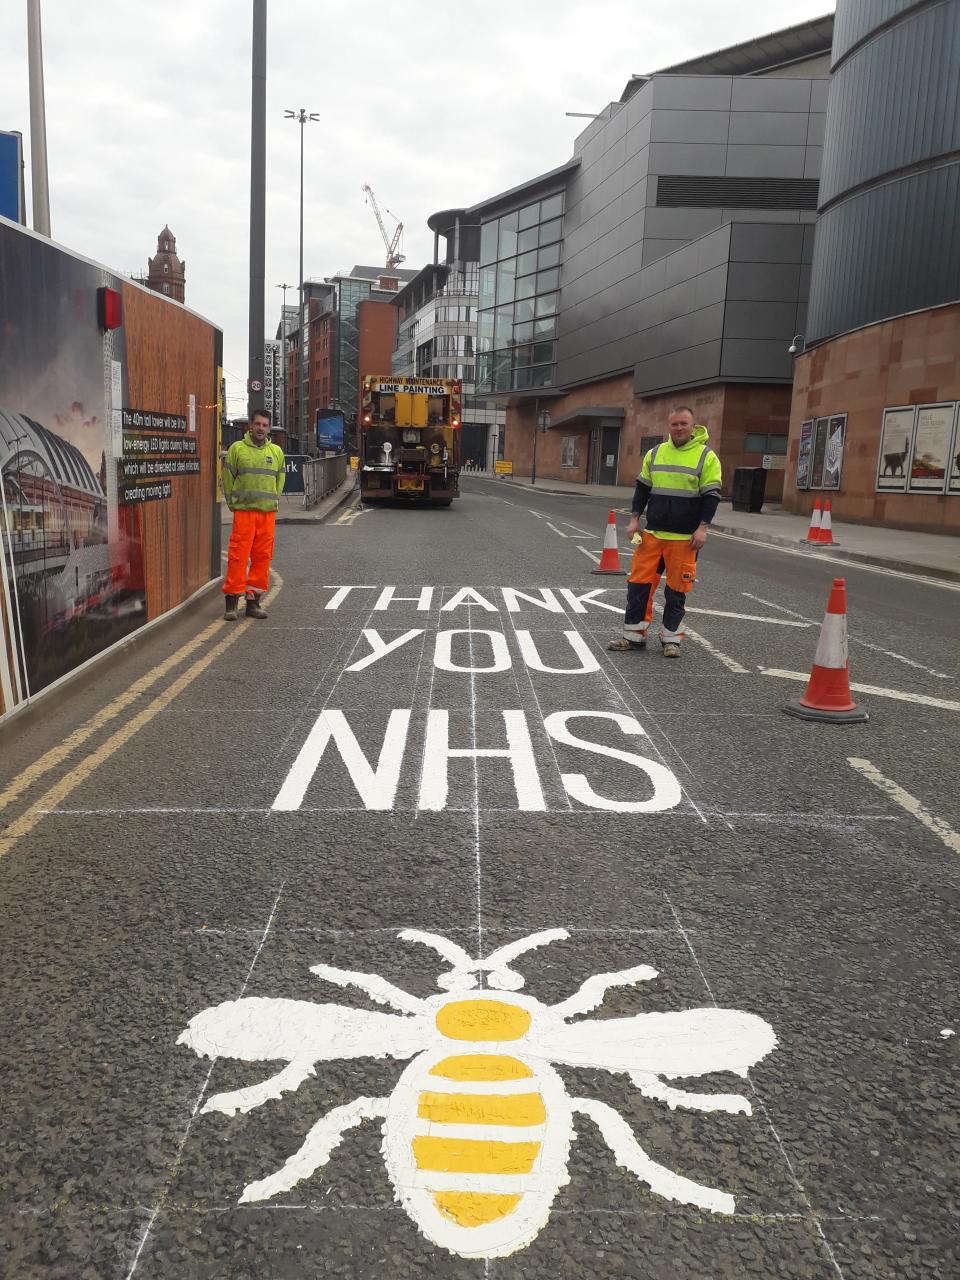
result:
<svg viewBox="0 0 960 1280"><path fill-rule="evenodd" d="M808 343L960 297L960 4L841 3L831 95Z"/></svg>

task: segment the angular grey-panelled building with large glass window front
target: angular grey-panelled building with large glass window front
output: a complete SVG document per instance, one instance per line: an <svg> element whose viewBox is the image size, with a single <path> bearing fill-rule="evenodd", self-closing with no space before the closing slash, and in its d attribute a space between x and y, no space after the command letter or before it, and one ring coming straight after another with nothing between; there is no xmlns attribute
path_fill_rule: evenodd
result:
<svg viewBox="0 0 960 1280"><path fill-rule="evenodd" d="M636 451L626 445L639 448L653 401L678 388L781 388L755 416L776 419L764 431L785 445L832 33L827 15L634 76L564 165L465 211L480 223L477 394L509 402L521 470L532 430L524 406L558 396L570 401L554 406L567 431L605 433L580 451L593 458L582 479L600 479L600 454L603 479L628 475ZM605 385L613 379L627 381ZM590 388L611 410L604 424L576 416L577 392ZM623 438L612 449L614 428ZM547 474L567 475L577 448L567 439L556 458L545 448Z"/></svg>

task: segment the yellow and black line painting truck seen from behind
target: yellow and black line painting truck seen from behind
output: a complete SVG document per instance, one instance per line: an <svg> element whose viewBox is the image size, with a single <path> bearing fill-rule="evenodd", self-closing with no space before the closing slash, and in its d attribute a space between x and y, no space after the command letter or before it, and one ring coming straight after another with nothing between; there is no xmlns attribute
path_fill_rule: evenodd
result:
<svg viewBox="0 0 960 1280"><path fill-rule="evenodd" d="M449 507L460 494L462 401L456 378L364 378L361 499Z"/></svg>

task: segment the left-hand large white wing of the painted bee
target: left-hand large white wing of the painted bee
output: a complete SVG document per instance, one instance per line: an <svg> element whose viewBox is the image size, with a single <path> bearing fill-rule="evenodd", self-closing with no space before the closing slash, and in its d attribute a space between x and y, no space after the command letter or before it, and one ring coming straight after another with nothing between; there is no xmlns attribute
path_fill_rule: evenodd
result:
<svg viewBox="0 0 960 1280"><path fill-rule="evenodd" d="M246 996L191 1018L177 1043L201 1057L244 1062L324 1062L353 1057L412 1057L430 1039L422 1016L369 1012L308 1000Z"/></svg>

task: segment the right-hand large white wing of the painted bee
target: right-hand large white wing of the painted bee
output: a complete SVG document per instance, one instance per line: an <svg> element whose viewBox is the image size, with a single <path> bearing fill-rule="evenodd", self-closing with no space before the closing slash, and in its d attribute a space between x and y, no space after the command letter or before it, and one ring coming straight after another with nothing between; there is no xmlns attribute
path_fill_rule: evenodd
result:
<svg viewBox="0 0 960 1280"><path fill-rule="evenodd" d="M536 1051L564 1066L649 1073L673 1079L745 1074L774 1048L773 1028L739 1009L686 1009L634 1018L585 1019L543 1029Z"/></svg>

